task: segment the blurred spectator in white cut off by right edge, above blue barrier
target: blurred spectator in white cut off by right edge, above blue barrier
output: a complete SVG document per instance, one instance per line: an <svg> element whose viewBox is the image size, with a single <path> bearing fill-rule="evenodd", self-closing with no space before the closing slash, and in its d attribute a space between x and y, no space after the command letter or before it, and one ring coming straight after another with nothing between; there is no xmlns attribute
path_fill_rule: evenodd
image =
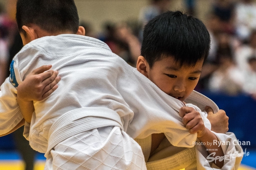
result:
<svg viewBox="0 0 256 170"><path fill-rule="evenodd" d="M250 69L244 72L244 92L256 100L256 56L248 58Z"/></svg>

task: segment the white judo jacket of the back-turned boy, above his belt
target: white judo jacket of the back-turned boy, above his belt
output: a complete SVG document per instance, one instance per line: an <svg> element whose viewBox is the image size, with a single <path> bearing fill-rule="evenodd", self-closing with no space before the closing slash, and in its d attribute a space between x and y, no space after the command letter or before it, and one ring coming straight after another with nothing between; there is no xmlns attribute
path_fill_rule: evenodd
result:
<svg viewBox="0 0 256 170"><path fill-rule="evenodd" d="M72 135L106 126L118 126L133 139L163 132L174 146L194 147L196 134L188 132L178 115L182 102L165 94L102 41L70 34L36 39L14 57L10 79L1 86L0 134L23 118L16 99L18 84L47 64L59 71L62 80L48 98L34 102L31 124L24 131L34 150L48 154ZM218 111L214 102L197 92L188 101L200 110L208 105ZM204 112L202 117L210 129ZM239 147L236 150L241 151Z"/></svg>

